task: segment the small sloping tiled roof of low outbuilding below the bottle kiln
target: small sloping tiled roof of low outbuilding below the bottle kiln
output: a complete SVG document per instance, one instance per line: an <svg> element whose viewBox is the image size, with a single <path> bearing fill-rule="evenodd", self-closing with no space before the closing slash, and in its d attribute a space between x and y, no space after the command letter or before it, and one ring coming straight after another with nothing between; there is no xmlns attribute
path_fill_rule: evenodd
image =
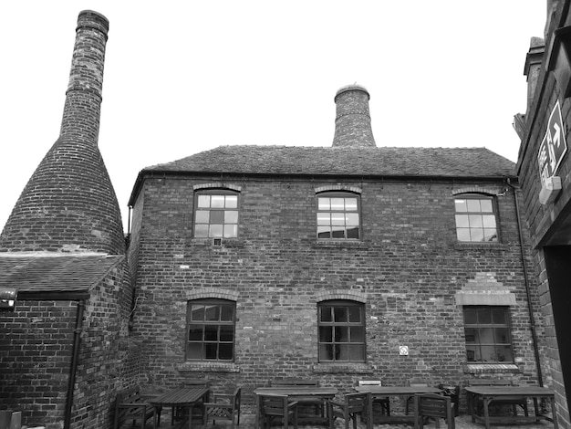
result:
<svg viewBox="0 0 571 429"><path fill-rule="evenodd" d="M18 292L87 292L124 256L0 254L0 288Z"/></svg>

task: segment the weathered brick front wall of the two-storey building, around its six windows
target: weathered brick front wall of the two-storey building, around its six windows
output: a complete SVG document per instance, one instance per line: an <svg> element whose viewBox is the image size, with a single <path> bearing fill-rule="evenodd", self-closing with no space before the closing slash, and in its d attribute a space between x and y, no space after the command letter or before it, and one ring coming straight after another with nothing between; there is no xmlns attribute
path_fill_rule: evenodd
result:
<svg viewBox="0 0 571 429"><path fill-rule="evenodd" d="M144 299L133 336L152 339L141 349L149 357L149 388L206 376L215 389L244 386L248 404L256 386L278 376L317 378L342 391L365 378L462 383L474 375L463 371L455 294L480 273L516 297L512 333L521 373L500 376L535 382L514 194L504 183L480 183L505 192L497 198L501 244L456 241L452 190L474 183L386 181L338 183L362 188L363 240L324 244L316 240L315 189L337 181L240 178L239 237L215 247L192 238L192 185L217 180L147 179L145 204L136 208L137 288ZM203 297L236 300L233 364L184 362L186 303ZM366 303L367 363L320 364L317 302L344 297ZM399 345L410 355L400 356Z"/></svg>

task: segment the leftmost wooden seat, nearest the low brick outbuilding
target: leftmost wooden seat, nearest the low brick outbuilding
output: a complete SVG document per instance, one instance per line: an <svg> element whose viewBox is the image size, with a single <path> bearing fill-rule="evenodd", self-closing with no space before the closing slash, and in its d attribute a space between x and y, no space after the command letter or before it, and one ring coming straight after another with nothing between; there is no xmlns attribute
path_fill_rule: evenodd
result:
<svg viewBox="0 0 571 429"><path fill-rule="evenodd" d="M119 429L121 424L132 420L133 425L140 424L143 429L151 417L154 424L155 409L147 402L151 397L151 395L143 395L137 386L118 392L115 400L114 428ZM161 411L158 414L160 419Z"/></svg>

